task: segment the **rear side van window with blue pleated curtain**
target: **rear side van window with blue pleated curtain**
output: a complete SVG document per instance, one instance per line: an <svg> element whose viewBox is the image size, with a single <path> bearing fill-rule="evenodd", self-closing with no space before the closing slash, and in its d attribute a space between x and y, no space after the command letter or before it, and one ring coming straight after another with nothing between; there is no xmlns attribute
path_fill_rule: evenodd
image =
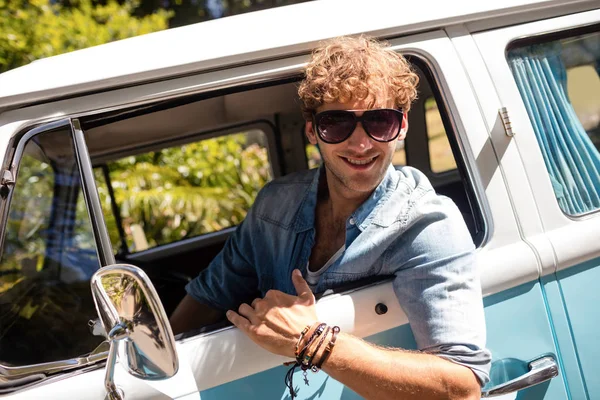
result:
<svg viewBox="0 0 600 400"><path fill-rule="evenodd" d="M509 49L554 194L562 211L600 208L600 33Z"/></svg>

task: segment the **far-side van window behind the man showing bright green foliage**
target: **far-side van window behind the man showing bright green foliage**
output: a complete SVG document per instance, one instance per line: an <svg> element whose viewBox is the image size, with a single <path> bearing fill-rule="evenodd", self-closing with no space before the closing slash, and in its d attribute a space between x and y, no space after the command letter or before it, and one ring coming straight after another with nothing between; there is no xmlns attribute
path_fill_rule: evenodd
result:
<svg viewBox="0 0 600 400"><path fill-rule="evenodd" d="M273 176L259 129L132 155L105 167L129 253L238 225ZM96 179L116 249L122 247L120 232L100 168Z"/></svg>

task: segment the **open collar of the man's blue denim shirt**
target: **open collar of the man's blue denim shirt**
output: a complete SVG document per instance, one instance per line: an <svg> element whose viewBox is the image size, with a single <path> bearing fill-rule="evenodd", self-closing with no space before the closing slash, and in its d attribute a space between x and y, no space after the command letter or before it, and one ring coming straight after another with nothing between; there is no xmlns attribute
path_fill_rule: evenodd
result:
<svg viewBox="0 0 600 400"><path fill-rule="evenodd" d="M314 228L319 179L321 175L325 173L324 169L325 167L321 165L318 170L315 171L314 177L308 186L306 193L304 194L300 209L296 215L296 233ZM361 231L364 231L377 217L377 213L381 206L390 197L394 190L396 190L399 180L399 174L396 173L394 166L390 164L379 185L377 185L369 198L365 200L365 202L350 215L348 221L353 219L354 224ZM346 221L346 225L348 225L348 221Z"/></svg>

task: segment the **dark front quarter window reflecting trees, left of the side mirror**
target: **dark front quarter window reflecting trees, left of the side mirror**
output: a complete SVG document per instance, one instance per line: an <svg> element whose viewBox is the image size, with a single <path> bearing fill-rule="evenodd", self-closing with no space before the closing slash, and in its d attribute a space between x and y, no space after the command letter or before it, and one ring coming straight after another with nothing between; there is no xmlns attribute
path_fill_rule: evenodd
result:
<svg viewBox="0 0 600 400"><path fill-rule="evenodd" d="M65 360L103 338L89 280L99 268L68 128L25 145L0 262L0 364Z"/></svg>

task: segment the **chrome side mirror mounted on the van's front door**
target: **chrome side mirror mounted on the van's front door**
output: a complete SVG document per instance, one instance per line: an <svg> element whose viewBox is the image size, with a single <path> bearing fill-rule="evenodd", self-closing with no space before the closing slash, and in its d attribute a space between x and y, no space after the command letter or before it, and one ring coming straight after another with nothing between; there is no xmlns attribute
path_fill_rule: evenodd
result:
<svg viewBox="0 0 600 400"><path fill-rule="evenodd" d="M173 331L144 271L128 264L110 265L96 271L91 285L110 341L104 382L107 397L122 399L113 379L118 350L121 364L136 378L160 380L175 375L179 362Z"/></svg>

